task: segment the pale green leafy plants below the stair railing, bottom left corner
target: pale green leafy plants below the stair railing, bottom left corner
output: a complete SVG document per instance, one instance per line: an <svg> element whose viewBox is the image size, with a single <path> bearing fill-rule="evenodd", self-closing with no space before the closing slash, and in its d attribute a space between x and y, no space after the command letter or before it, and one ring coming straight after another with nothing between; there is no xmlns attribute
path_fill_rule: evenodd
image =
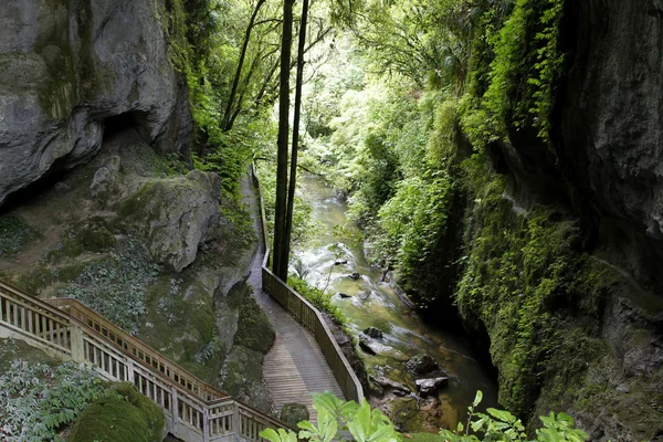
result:
<svg viewBox="0 0 663 442"><path fill-rule="evenodd" d="M73 362L57 367L11 362L0 376L0 436L3 441L50 441L85 407L108 396L96 373Z"/></svg>

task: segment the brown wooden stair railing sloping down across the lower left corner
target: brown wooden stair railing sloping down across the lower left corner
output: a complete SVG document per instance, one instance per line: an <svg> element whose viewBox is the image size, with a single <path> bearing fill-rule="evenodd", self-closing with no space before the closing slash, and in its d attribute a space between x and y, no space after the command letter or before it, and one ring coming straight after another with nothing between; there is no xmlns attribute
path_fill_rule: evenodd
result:
<svg viewBox="0 0 663 442"><path fill-rule="evenodd" d="M19 337L92 366L108 380L134 383L164 409L168 431L187 442L263 441L284 423L245 406L170 361L72 298L43 302L0 281L0 336Z"/></svg>

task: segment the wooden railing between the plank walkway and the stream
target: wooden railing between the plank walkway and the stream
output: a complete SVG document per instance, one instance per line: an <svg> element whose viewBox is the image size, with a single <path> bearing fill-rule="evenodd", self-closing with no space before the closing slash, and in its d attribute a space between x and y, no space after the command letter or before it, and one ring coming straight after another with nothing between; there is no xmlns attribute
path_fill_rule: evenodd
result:
<svg viewBox="0 0 663 442"><path fill-rule="evenodd" d="M265 244L265 257L262 265L263 290L281 304L281 306L283 306L283 308L285 308L299 324L311 330L346 399L361 402L361 399L364 398L364 388L352 370L352 367L343 354L343 350L338 346L338 343L336 343L334 334L327 326L323 315L306 301L304 296L295 292L295 290L283 282L269 269L270 238L267 235L267 221L263 194L260 188L260 181L255 176L255 165L252 167L252 173L259 192L261 222Z"/></svg>

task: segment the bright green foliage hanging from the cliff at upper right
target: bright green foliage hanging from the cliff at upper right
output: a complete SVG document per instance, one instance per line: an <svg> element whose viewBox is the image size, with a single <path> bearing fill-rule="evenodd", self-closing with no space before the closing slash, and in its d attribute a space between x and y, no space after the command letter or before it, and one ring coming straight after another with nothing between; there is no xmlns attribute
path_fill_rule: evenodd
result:
<svg viewBox="0 0 663 442"><path fill-rule="evenodd" d="M463 128L475 147L507 139L509 128L534 127L539 138L549 140L555 85L564 61L558 48L562 12L564 0L517 0L498 33L490 20L484 22L483 41L495 54L488 86L481 101L466 97L463 114Z"/></svg>

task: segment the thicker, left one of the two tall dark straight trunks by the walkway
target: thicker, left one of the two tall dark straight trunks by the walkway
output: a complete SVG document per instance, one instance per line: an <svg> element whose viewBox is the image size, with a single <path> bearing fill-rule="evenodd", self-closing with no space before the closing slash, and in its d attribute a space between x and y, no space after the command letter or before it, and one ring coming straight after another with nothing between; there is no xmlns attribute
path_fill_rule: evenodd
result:
<svg viewBox="0 0 663 442"><path fill-rule="evenodd" d="M281 39L281 87L278 94L278 139L276 154L276 208L274 213L274 252L272 271L287 281L287 263L283 262L285 248L285 214L287 211L287 139L290 118L290 61L293 42L293 4L295 0L283 2L283 31Z"/></svg>

